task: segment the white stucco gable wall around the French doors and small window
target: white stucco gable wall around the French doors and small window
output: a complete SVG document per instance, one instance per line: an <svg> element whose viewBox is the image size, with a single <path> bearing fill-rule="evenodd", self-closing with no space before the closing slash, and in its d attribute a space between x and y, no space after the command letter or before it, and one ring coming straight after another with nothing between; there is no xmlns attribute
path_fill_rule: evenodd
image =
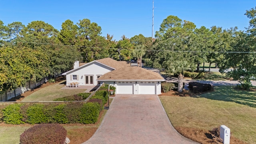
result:
<svg viewBox="0 0 256 144"><path fill-rule="evenodd" d="M99 64L98 62L92 62L86 66L81 66L76 70L68 72L66 74L66 81L67 81L67 84L71 82L79 82L80 86L85 86L85 85L96 86L98 84L98 82L96 81L97 76L102 76L103 74L106 74L107 72L110 72L112 70L113 69L109 68L108 66ZM77 75L78 80L72 80L72 75ZM85 84L86 75L93 76L93 84Z"/></svg>

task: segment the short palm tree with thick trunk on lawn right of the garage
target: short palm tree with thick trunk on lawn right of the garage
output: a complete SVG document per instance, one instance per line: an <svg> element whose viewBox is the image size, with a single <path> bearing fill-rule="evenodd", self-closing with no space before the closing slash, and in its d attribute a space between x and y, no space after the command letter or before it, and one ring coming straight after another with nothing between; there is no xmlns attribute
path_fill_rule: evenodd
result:
<svg viewBox="0 0 256 144"><path fill-rule="evenodd" d="M178 92L182 92L183 88L183 72L185 68L187 67L187 62L186 61L175 61L172 63L172 72L174 74L179 74L178 76Z"/></svg>

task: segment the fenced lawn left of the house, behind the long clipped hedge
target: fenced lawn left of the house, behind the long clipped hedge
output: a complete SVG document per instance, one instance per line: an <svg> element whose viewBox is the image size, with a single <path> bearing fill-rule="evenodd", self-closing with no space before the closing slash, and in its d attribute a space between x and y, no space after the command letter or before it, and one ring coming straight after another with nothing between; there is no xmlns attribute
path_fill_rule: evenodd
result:
<svg viewBox="0 0 256 144"><path fill-rule="evenodd" d="M42 88L22 100L22 102L53 101L56 98L71 96L82 93L86 89L61 89L65 86L64 81Z"/></svg>

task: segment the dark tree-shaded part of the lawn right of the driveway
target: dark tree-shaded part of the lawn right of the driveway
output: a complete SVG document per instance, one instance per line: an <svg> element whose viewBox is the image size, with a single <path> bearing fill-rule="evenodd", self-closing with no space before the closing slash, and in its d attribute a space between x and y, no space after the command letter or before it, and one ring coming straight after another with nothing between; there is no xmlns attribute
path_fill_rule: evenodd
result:
<svg viewBox="0 0 256 144"><path fill-rule="evenodd" d="M256 90L238 90L236 86L216 86L214 92L207 92L196 98L208 98L211 100L221 100L225 102L235 102L256 108Z"/></svg>

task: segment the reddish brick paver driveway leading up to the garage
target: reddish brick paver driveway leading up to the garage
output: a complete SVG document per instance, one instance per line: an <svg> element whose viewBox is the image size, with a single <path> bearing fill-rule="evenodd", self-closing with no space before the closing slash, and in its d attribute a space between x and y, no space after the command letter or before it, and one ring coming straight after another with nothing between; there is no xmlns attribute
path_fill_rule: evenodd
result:
<svg viewBox="0 0 256 144"><path fill-rule="evenodd" d="M83 144L197 144L178 134L157 95L117 94L96 133Z"/></svg>

